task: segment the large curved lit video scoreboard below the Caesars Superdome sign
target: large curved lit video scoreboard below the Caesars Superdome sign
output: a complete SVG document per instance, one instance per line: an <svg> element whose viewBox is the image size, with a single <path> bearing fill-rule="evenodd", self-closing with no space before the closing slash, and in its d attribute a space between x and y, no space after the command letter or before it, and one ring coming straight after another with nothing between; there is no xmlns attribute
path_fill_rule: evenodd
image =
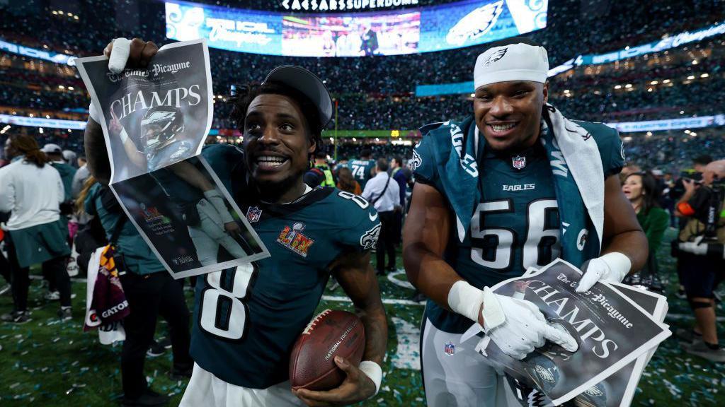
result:
<svg viewBox="0 0 725 407"><path fill-rule="evenodd" d="M165 2L167 38L206 38L212 48L283 56L457 49L542 29L547 7L547 0L465 0L389 11L307 13Z"/></svg>

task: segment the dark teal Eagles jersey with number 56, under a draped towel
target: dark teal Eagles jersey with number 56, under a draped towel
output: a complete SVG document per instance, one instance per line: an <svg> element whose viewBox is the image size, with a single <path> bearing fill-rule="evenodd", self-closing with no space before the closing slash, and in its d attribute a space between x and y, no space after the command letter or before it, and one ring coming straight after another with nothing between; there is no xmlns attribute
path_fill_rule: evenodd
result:
<svg viewBox="0 0 725 407"><path fill-rule="evenodd" d="M616 131L604 125L578 122L597 141L605 177L624 164ZM602 128L603 127L603 128ZM481 135L481 140L484 140ZM518 277L529 267L543 267L560 254L560 217L547 151L536 146L514 156L482 153L479 144L479 204L463 243L452 225L444 260L477 288ZM483 157L481 157L483 156ZM413 154L415 180L444 195L426 138ZM564 225L566 227L566 225ZM439 330L463 333L470 319L428 301L426 316Z"/></svg>

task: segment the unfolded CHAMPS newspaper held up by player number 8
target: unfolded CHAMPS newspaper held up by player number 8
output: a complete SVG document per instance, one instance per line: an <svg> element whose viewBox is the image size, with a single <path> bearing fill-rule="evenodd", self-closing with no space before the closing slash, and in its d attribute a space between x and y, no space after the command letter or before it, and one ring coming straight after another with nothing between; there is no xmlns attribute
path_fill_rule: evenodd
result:
<svg viewBox="0 0 725 407"><path fill-rule="evenodd" d="M213 101L204 40L163 46L144 69L112 73L106 56L76 66L99 112L111 189L174 278L269 256L201 155Z"/></svg>

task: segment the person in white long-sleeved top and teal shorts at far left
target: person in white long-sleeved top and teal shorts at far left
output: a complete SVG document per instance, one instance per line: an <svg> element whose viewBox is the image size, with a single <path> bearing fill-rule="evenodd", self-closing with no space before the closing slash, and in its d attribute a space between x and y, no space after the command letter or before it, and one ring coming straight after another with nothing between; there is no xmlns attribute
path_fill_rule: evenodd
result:
<svg viewBox="0 0 725 407"><path fill-rule="evenodd" d="M72 318L70 277L65 264L70 254L67 220L60 214L65 189L56 169L30 135L10 136L5 156L11 164L0 169L0 211L11 212L5 225L7 252L11 264L14 309L4 314L5 322L28 322L28 273L33 264L43 264L43 274L59 290L58 316Z"/></svg>

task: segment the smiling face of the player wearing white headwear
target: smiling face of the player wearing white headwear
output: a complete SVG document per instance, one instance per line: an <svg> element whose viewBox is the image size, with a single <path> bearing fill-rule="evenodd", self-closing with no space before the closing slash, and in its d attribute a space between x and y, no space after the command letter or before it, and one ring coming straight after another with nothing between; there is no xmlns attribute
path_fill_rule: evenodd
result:
<svg viewBox="0 0 725 407"><path fill-rule="evenodd" d="M481 86L473 99L476 125L495 151L529 148L539 136L548 98L548 83L514 81Z"/></svg>

